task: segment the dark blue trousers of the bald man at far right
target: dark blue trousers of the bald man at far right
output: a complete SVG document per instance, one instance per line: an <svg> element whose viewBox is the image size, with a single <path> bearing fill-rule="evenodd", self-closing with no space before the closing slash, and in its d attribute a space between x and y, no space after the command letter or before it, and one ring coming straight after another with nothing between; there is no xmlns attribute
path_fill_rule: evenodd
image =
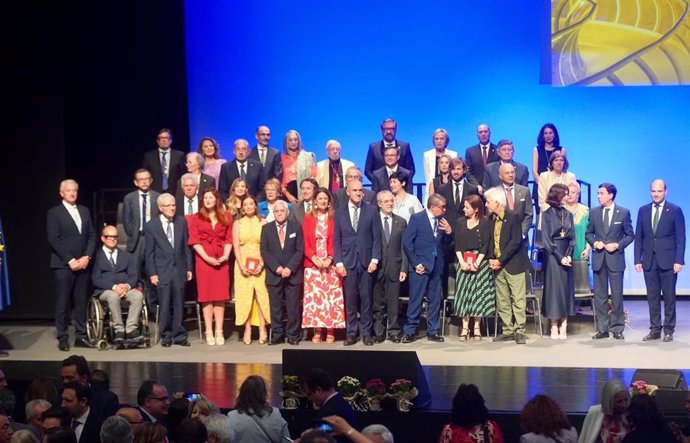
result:
<svg viewBox="0 0 690 443"><path fill-rule="evenodd" d="M671 269L660 269L656 255L652 255L652 266L644 271L649 304L649 329L661 332L661 297L664 298L664 333L673 334L676 329L676 280L678 274Z"/></svg>

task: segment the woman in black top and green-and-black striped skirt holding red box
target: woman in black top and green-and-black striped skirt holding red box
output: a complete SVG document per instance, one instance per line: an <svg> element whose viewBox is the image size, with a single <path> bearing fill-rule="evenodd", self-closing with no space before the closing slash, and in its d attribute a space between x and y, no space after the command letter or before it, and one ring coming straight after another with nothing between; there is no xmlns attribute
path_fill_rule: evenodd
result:
<svg viewBox="0 0 690 443"><path fill-rule="evenodd" d="M484 217L484 204L478 195L465 198L464 217L458 219L455 227L455 254L458 257L458 271L455 277L455 312L462 317L460 341L467 341L470 335L470 317L474 317L474 339L482 339L482 317L494 313L496 290L494 288L489 260L489 244L493 232L489 220Z"/></svg>

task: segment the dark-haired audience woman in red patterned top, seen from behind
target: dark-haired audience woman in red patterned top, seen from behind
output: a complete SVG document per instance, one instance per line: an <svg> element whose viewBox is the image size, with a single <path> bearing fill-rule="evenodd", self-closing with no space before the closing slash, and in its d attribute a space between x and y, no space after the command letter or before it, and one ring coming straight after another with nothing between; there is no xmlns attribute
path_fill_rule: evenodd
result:
<svg viewBox="0 0 690 443"><path fill-rule="evenodd" d="M443 427L439 443L502 443L498 423L489 420L484 397L475 385L461 384L453 398L451 422Z"/></svg>

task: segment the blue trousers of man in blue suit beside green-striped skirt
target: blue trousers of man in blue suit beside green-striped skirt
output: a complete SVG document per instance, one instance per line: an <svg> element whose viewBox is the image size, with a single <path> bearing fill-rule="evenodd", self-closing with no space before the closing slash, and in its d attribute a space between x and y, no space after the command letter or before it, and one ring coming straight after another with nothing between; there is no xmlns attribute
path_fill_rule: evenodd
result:
<svg viewBox="0 0 690 443"><path fill-rule="evenodd" d="M410 279L410 303L407 305L407 322L405 334L414 335L419 328L419 318L422 315L424 295L429 299L427 312L427 334L438 334L441 329L441 278L445 267L443 256L436 256L434 270L429 274L419 275L414 271L408 274Z"/></svg>

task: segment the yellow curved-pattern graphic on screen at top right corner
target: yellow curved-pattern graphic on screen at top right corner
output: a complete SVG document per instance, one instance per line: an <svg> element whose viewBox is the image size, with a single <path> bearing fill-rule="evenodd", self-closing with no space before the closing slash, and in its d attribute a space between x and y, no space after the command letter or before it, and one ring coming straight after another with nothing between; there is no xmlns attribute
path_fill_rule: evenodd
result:
<svg viewBox="0 0 690 443"><path fill-rule="evenodd" d="M551 0L555 86L690 84L686 0Z"/></svg>

